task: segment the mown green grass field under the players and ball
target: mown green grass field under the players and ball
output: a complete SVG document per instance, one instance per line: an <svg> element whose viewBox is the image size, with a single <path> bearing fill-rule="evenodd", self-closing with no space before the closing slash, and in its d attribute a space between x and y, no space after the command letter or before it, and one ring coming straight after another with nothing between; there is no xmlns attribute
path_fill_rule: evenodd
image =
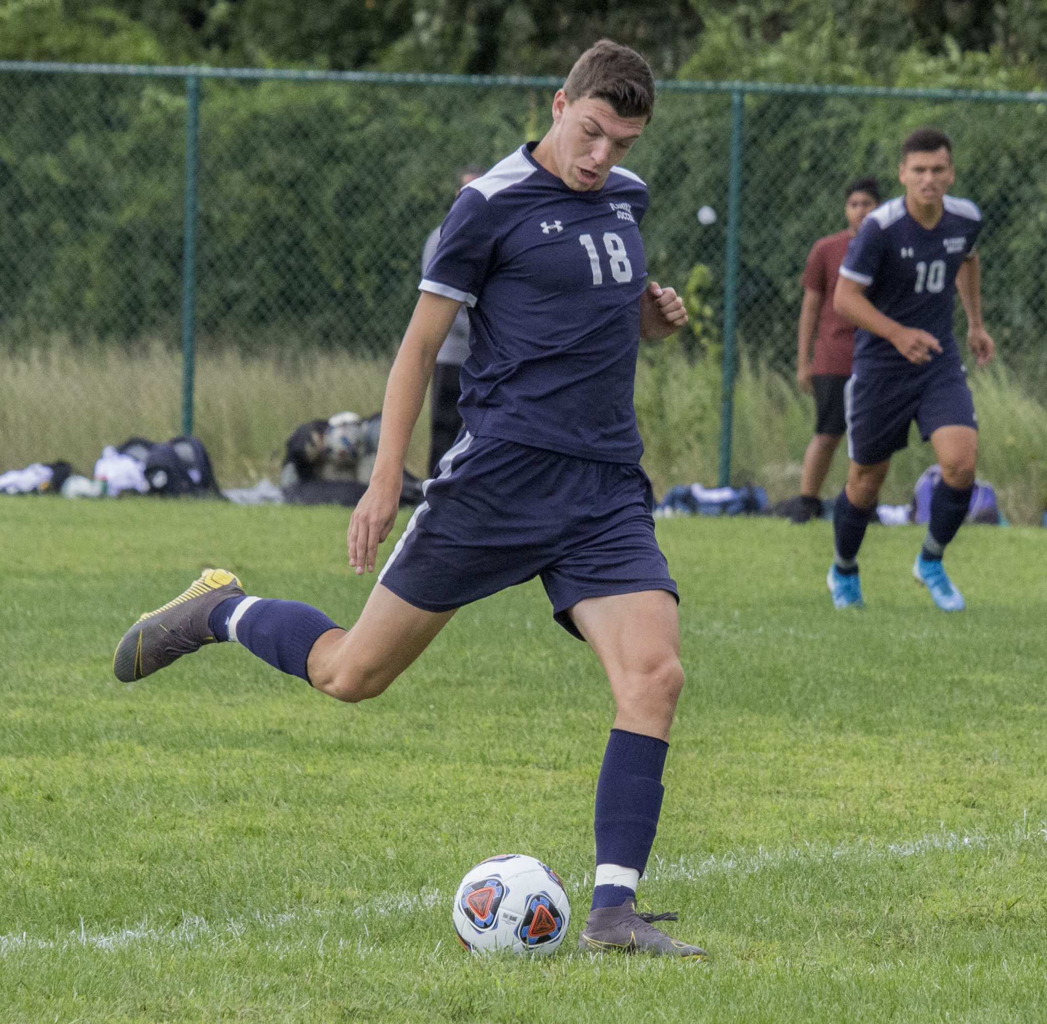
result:
<svg viewBox="0 0 1047 1024"><path fill-rule="evenodd" d="M962 531L945 616L916 528L870 531L869 607L838 613L826 524L660 524L688 686L642 896L712 954L682 964L575 952L612 705L538 584L357 706L231 644L112 677L208 564L351 620L346 522L0 499L0 1020L1047 1016L1047 531ZM461 875L506 850L566 881L551 959L454 939Z"/></svg>

